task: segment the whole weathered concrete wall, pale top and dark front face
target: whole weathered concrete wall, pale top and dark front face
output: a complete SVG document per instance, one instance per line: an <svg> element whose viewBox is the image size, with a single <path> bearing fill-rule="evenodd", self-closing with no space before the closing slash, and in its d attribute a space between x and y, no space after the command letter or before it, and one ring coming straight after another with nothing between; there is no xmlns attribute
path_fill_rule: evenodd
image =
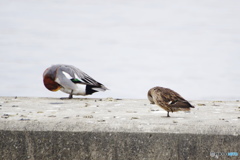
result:
<svg viewBox="0 0 240 160"><path fill-rule="evenodd" d="M240 154L240 102L0 97L0 159L210 159ZM219 156L220 159L239 159Z"/></svg>

